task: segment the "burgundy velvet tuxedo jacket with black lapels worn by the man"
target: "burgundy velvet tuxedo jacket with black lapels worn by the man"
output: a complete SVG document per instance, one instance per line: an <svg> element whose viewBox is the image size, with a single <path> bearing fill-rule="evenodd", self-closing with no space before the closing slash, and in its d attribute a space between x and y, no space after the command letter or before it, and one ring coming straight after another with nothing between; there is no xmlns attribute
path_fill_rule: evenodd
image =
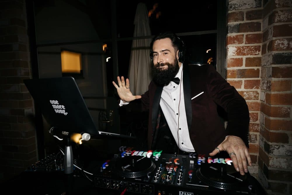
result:
<svg viewBox="0 0 292 195"><path fill-rule="evenodd" d="M159 141L155 127L162 89L152 81L149 90L140 99L142 110L149 109L149 149L155 149ZM212 65L184 65L183 91L190 140L197 153L212 152L227 135L241 137L248 147L249 111L246 101ZM192 99L201 92L204 93ZM227 113L226 129L218 115L218 106Z"/></svg>

